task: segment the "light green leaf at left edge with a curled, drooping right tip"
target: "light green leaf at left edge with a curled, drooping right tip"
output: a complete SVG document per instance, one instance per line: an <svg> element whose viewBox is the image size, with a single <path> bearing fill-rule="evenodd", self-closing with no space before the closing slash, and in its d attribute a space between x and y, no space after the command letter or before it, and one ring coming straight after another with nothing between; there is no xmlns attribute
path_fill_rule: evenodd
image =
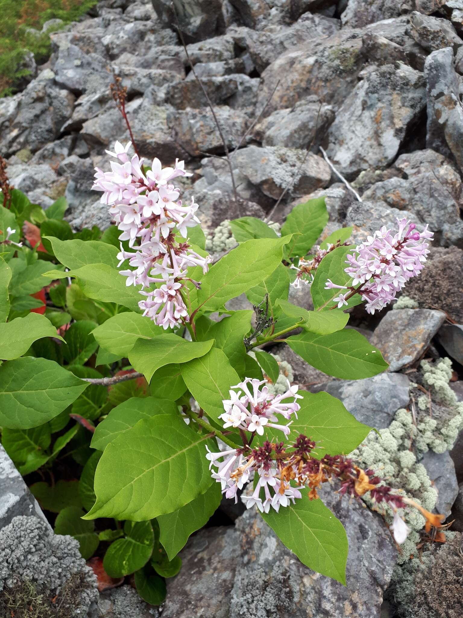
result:
<svg viewBox="0 0 463 618"><path fill-rule="evenodd" d="M25 318L0 323L0 358L13 360L20 357L34 341L42 337L56 337L64 341L53 324L39 313L29 313Z"/></svg>

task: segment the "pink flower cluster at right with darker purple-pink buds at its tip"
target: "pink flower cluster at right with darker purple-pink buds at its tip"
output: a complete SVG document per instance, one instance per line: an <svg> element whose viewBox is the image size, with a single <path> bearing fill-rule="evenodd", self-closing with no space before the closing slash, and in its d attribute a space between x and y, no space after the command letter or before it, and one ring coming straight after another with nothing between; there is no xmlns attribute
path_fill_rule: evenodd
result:
<svg viewBox="0 0 463 618"><path fill-rule="evenodd" d="M427 241L433 239L428 226L418 232L407 219L397 221L399 229L394 235L383 226L347 256L345 271L352 277L352 286L338 286L328 279L325 290L358 291L366 300L368 313L380 311L394 300L406 282L420 274L429 253ZM355 290L356 286L360 287ZM340 293L333 298L338 308L348 304L347 296Z"/></svg>

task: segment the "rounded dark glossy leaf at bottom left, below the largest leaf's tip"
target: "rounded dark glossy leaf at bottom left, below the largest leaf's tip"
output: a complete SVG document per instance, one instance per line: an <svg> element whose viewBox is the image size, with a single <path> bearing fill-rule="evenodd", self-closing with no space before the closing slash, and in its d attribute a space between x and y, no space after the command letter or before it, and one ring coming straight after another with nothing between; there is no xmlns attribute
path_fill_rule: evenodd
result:
<svg viewBox="0 0 463 618"><path fill-rule="evenodd" d="M109 577L130 575L149 561L154 544L151 522L125 522L125 538L114 541L104 554L103 568Z"/></svg>

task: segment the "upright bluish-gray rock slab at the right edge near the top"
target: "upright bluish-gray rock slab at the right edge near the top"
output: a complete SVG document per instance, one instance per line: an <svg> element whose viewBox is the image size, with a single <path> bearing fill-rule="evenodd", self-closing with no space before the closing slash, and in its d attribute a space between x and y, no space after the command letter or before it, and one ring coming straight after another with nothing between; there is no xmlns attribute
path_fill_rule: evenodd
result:
<svg viewBox="0 0 463 618"><path fill-rule="evenodd" d="M453 155L463 170L463 108L451 48L439 49L425 62L427 79L426 145L442 155Z"/></svg>

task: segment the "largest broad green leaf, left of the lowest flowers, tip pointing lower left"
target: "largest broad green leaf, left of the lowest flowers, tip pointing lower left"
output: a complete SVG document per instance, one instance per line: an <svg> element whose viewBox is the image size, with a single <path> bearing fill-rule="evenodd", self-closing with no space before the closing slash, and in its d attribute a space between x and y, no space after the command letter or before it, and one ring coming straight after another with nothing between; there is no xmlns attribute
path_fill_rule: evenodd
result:
<svg viewBox="0 0 463 618"><path fill-rule="evenodd" d="M86 517L143 521L185 506L212 484L206 445L214 447L180 415L138 421L104 449Z"/></svg>

